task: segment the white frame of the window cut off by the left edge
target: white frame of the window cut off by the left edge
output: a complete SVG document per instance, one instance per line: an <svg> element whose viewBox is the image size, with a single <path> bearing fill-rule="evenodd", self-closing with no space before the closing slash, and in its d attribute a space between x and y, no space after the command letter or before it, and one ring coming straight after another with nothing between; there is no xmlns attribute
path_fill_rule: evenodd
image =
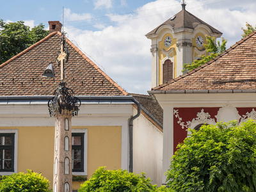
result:
<svg viewBox="0 0 256 192"><path fill-rule="evenodd" d="M14 133L14 172L0 172L0 175L12 175L18 168L18 129L0 129L0 133Z"/></svg>

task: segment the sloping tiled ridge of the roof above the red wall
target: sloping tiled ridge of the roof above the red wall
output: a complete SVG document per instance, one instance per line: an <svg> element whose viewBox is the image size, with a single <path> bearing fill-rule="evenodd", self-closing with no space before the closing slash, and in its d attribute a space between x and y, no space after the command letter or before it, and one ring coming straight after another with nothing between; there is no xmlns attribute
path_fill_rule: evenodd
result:
<svg viewBox="0 0 256 192"><path fill-rule="evenodd" d="M162 88L168 84L172 84L176 81L178 81L179 79L183 79L187 76L190 76L191 74L197 72L198 70L201 70L202 68L204 67L207 67L208 65L211 65L211 63L213 63L214 61L217 61L219 60L220 58L222 58L225 54L227 54L228 52L232 51L233 49L235 49L238 45L241 45L243 44L246 40L248 40L249 38L251 38L253 35L256 34L256 30L253 31L252 33L250 33L249 35L247 35L246 37L242 38L241 40L239 40L238 42L236 42L234 45L230 46L230 48L226 49L225 51L221 52L221 54L218 54L218 56L216 56L215 58L212 58L211 61L208 61L206 63L204 63L203 65L200 65L199 67L197 68L194 68L193 70L187 72L186 74L183 74L179 77L176 77L175 79L172 79L166 83L163 83L163 84L159 84L159 86L156 86L155 88L152 88L151 90L158 90L159 88Z"/></svg>

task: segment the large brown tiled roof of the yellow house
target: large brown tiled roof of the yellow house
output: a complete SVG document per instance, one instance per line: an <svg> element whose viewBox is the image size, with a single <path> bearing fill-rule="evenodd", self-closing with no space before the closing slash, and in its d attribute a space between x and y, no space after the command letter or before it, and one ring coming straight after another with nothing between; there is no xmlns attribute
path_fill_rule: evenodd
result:
<svg viewBox="0 0 256 192"><path fill-rule="evenodd" d="M0 65L0 96L53 95L60 83L56 56L60 50L60 32L54 32ZM93 61L66 38L70 51L65 63L65 82L75 95L128 95ZM49 65L54 78L42 77Z"/></svg>

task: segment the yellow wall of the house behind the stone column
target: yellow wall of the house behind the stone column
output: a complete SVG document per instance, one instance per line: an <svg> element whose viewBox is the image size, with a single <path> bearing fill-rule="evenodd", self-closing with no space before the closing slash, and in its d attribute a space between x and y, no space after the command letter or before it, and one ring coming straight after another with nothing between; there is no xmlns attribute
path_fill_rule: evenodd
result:
<svg viewBox="0 0 256 192"><path fill-rule="evenodd" d="M0 127L18 129L17 172L42 173L51 183L54 159L54 127ZM122 127L72 127L88 129L87 179L99 166L108 170L121 168ZM1 173L0 173L1 174ZM83 182L73 182L73 189L79 189Z"/></svg>

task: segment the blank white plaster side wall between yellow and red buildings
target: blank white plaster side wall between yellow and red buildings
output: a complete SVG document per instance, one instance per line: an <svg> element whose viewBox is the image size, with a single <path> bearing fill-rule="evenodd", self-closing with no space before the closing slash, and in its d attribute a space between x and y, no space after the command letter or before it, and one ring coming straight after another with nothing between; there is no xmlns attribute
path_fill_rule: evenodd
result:
<svg viewBox="0 0 256 192"><path fill-rule="evenodd" d="M134 114L137 111L134 109ZM133 171L162 184L163 132L140 115L133 122Z"/></svg>

